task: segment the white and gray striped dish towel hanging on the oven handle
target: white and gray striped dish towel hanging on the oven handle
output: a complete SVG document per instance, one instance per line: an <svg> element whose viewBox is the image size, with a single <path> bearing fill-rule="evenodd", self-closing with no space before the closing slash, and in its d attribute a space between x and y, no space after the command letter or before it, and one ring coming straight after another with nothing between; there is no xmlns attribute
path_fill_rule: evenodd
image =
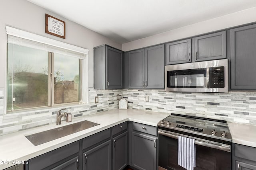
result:
<svg viewBox="0 0 256 170"><path fill-rule="evenodd" d="M178 136L178 165L187 170L196 167L195 139Z"/></svg>

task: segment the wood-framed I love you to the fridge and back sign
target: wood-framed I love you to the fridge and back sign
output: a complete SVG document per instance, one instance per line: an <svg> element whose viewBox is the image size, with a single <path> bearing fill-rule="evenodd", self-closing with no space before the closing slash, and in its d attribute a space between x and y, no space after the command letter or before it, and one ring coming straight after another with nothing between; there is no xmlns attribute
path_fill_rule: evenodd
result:
<svg viewBox="0 0 256 170"><path fill-rule="evenodd" d="M45 32L65 39L65 22L45 14Z"/></svg>

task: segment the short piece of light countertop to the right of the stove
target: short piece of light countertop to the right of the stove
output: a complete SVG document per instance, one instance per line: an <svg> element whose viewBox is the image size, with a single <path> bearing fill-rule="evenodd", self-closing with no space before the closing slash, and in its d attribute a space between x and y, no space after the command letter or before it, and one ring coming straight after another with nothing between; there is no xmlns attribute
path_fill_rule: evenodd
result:
<svg viewBox="0 0 256 170"><path fill-rule="evenodd" d="M240 123L228 123L232 142L249 147L256 147L256 126Z"/></svg>

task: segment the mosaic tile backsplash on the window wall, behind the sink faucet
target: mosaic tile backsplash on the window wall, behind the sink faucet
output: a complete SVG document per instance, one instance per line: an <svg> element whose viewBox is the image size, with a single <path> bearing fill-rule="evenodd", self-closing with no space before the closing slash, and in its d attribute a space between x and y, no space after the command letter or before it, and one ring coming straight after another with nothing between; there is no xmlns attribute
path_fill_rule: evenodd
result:
<svg viewBox="0 0 256 170"><path fill-rule="evenodd" d="M4 90L0 89L0 135L56 123L56 113L60 109L59 107L4 114L4 95L2 93ZM116 100L117 94L122 98L122 90L94 90L89 88L88 104L64 108L70 109L75 118L116 109L119 104L119 100ZM95 96L99 98L97 104L94 103ZM65 120L66 118L62 119Z"/></svg>

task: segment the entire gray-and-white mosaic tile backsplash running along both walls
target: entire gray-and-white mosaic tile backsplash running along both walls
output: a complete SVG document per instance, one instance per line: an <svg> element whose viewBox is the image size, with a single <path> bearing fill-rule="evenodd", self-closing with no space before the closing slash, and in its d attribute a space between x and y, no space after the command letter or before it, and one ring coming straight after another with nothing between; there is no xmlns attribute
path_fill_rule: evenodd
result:
<svg viewBox="0 0 256 170"><path fill-rule="evenodd" d="M60 108L4 114L4 88L0 88L0 135L56 123ZM128 108L156 112L180 113L231 122L256 125L256 91L228 93L165 92L164 90L94 90L89 88L88 104L70 106L73 117L82 117L118 108L118 100L125 98ZM98 96L99 103L94 103ZM149 96L149 102L145 102ZM64 118L65 119L65 118Z"/></svg>

